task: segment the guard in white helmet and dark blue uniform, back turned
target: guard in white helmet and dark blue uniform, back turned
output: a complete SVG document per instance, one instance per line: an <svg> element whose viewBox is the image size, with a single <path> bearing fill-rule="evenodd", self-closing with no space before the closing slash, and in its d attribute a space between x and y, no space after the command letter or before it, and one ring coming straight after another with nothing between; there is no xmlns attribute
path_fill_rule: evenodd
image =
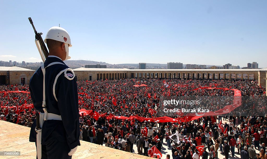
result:
<svg viewBox="0 0 267 159"><path fill-rule="evenodd" d="M80 145L77 83L74 72L63 62L70 58L72 45L68 32L60 27L50 28L44 42L49 56L29 85L34 107L40 111L42 129L36 129L35 120L30 142L36 142L38 158L72 158Z"/></svg>

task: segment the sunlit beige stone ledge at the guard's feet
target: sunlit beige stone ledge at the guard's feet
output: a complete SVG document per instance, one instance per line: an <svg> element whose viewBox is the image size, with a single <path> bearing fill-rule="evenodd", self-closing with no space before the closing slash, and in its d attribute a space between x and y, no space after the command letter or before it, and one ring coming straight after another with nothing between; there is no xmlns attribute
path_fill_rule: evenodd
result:
<svg viewBox="0 0 267 159"><path fill-rule="evenodd" d="M5 158L36 158L36 147L29 142L30 128L0 120L0 151L20 151L20 156L0 156ZM129 153L102 145L80 141L81 146L72 158L150 158L139 154Z"/></svg>

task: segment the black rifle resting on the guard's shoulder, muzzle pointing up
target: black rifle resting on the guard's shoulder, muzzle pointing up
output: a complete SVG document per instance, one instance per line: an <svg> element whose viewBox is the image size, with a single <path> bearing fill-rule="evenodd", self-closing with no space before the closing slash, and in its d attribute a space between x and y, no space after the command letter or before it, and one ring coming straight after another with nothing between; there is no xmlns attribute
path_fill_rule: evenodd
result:
<svg viewBox="0 0 267 159"><path fill-rule="evenodd" d="M32 24L32 27L33 27L33 30L34 30L34 33L35 33L35 44L36 44L37 49L38 49L38 51L40 53L42 61L45 62L45 59L48 57L49 53L48 53L48 50L47 50L47 48L45 46L44 40L42 39L42 36L41 36L43 33L41 33L41 32L37 33L37 31L36 31L36 29L35 29L35 27L33 25L32 18L29 17L28 19L29 19L30 23Z"/></svg>

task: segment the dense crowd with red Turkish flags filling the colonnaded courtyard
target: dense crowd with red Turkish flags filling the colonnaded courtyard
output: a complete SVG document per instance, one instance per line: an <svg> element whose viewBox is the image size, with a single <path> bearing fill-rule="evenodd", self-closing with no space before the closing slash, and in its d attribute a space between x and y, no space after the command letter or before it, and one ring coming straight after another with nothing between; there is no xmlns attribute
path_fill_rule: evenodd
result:
<svg viewBox="0 0 267 159"><path fill-rule="evenodd" d="M133 85L145 85L135 87ZM105 114L98 119L80 114L80 140L105 145L115 149L151 156L149 150L155 146L162 151L163 143L171 149L173 158L216 158L221 151L225 158L266 158L267 116L265 87L254 80L178 80L178 79L124 79L77 81L79 109ZM0 86L1 120L31 127L35 111L29 93L6 93L29 91L28 85ZM156 118L162 116L157 110L162 96L233 96L232 90L198 89L217 87L238 89L242 105L222 116L204 116L186 123L157 123L130 119L106 118L115 116L140 116ZM221 109L231 101L208 101L211 111ZM17 111L16 106L19 110ZM26 106L26 107L25 107ZM155 113L149 113L149 109ZM16 113L18 112L18 113ZM186 115L186 114L184 114ZM177 118L174 114L172 118ZM222 121L226 121L226 123ZM220 124L219 124L220 123ZM142 133L146 127L147 133ZM225 131L226 130L226 131ZM176 140L172 135L178 133ZM178 139L179 138L179 139ZM203 145L203 152L196 148ZM237 148L237 152L235 151ZM256 153L258 152L258 153ZM155 158L157 155L152 154Z"/></svg>

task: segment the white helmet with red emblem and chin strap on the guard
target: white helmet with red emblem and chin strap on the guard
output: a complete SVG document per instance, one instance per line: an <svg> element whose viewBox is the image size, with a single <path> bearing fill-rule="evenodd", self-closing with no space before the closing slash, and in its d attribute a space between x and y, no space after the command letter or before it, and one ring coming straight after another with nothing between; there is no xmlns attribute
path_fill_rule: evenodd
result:
<svg viewBox="0 0 267 159"><path fill-rule="evenodd" d="M70 59L69 47L72 47L72 45L70 42L69 33L65 29L61 27L50 28L45 36L45 40L44 40L45 43L46 43L46 39L52 39L52 40L61 41L65 43L65 49L66 49L67 54L66 54L66 58L62 60L64 61L64 60Z"/></svg>

